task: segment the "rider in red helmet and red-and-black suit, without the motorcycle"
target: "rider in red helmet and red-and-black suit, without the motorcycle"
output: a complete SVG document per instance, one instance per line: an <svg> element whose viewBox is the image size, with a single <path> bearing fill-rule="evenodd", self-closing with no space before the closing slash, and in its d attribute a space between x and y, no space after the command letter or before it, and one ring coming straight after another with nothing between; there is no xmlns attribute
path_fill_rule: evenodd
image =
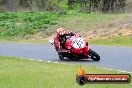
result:
<svg viewBox="0 0 132 88"><path fill-rule="evenodd" d="M74 32L66 32L65 29L59 28L57 29L57 35L56 39L59 42L58 48L65 49L65 42L66 42L66 36L74 36L77 35Z"/></svg>

